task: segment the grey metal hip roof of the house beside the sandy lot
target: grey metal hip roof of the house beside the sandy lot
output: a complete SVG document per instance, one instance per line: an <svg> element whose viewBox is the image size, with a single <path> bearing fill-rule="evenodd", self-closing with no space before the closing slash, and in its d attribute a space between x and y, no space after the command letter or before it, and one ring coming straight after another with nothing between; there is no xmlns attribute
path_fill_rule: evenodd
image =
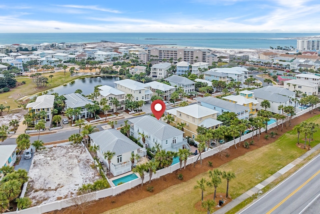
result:
<svg viewBox="0 0 320 214"><path fill-rule="evenodd" d="M120 155L141 148L115 129L94 132L89 136L99 146L101 153L111 151L115 152L115 155Z"/></svg>

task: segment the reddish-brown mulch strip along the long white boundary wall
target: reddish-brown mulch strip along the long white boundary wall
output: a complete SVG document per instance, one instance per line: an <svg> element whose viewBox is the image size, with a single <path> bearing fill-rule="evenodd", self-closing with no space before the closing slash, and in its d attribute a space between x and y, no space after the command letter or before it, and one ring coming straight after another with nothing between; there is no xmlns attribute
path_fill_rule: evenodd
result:
<svg viewBox="0 0 320 214"><path fill-rule="evenodd" d="M306 120L307 118L310 118L316 114L319 114L318 111L315 111L313 114L310 113L306 113L300 117L294 118L292 119L291 122L291 126L290 127L283 127L283 132L289 131L291 130L295 125L301 123L302 121ZM213 155L211 157L205 158L204 160L202 160L202 162L207 162L207 161L211 161L212 162L212 166L214 168L236 158L239 157L243 154L245 154L248 151L252 151L254 149L257 149L259 147L262 147L266 144L272 143L274 142L278 137L281 136L281 128L279 128L279 130L277 131L279 134L275 135L274 138L269 138L267 140L264 139L264 135L265 133L261 133L260 136L260 140L257 140L257 136L253 137L254 140L254 145L251 145L249 149L244 148L243 146L238 146L237 149L234 148L234 146L231 146L230 148L228 148L228 153L229 153L229 157L227 158L221 158L219 155ZM270 129L268 132L270 133L271 131L276 131L276 128L272 128ZM211 170L212 167L209 167L208 164L196 164L195 167L193 167L193 164L190 164L188 166L186 166L185 170L182 170L182 174L183 174L183 181L189 180L193 177L195 177L196 175L206 172L208 170ZM169 186L175 185L180 183L181 181L179 179L176 178L176 173L170 173L170 174L166 174L162 177L160 177L159 179L155 179L152 180L152 186L154 187L154 190L152 193L148 192L145 190L145 186L140 187L134 187L132 189L129 189L125 192L122 192L116 196L113 197L106 197L106 198L101 198L99 200L97 200L93 205L90 205L89 207L86 208L86 210L84 211L84 213L90 213L90 214L98 214L98 213L102 213L104 211L113 209L115 207L120 207L123 206L125 204L128 203L132 203L135 202L137 200L140 200L142 198L154 195L160 191L162 191L163 189L168 188ZM216 202L218 202L218 199L222 197L222 194L224 193L217 193L217 198L216 198ZM225 195L223 195L225 196ZM225 205L227 202L230 201L231 198L224 198L225 203L223 205ZM195 207L198 210L203 210L199 207L199 204L194 204ZM204 211L204 210L203 210ZM62 210L55 210L55 211L51 211L48 212L49 214L66 214L66 213L70 213L70 214L78 214L80 213L78 210L72 210L70 211L69 209L62 209Z"/></svg>

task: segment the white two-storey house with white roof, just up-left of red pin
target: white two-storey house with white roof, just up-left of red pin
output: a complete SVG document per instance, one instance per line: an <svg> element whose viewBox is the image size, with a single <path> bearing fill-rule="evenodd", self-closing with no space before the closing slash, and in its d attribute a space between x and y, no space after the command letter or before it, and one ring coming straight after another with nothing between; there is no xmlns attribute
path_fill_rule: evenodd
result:
<svg viewBox="0 0 320 214"><path fill-rule="evenodd" d="M145 102L150 102L153 94L149 85L130 79L115 81L114 88L123 91L126 94L132 94L133 101L143 100Z"/></svg>

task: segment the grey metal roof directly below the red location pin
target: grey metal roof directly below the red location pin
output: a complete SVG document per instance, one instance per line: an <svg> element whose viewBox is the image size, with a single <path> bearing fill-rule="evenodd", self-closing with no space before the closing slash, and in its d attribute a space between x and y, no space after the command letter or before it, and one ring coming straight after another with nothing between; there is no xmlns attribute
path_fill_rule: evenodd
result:
<svg viewBox="0 0 320 214"><path fill-rule="evenodd" d="M133 123L134 127L138 127L138 132L146 132L159 140L168 139L184 133L183 131L174 128L165 122L157 120L155 117L150 115L132 118L128 121Z"/></svg>

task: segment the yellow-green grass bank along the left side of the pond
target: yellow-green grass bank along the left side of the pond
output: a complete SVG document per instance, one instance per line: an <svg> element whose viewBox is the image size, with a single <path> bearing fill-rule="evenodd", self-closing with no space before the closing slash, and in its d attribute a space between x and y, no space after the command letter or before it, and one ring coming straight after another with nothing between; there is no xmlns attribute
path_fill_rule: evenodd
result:
<svg viewBox="0 0 320 214"><path fill-rule="evenodd" d="M16 88L10 89L10 91L6 93L0 94L0 104L3 104L4 106L10 106L10 109L15 109L18 106L18 103L16 102L17 99L22 98L24 96L30 96L35 93L39 93L41 91L46 91L48 89L66 84L70 82L71 80L81 78L83 76L72 76L70 77L70 73L66 72L64 76L64 72L55 72L55 73L41 73L42 76L48 78L48 84L45 87L36 87L36 84L32 82L32 78L28 77L18 77L17 81L22 82L25 81L24 85L18 86ZM52 82L49 78L49 75L53 75ZM37 88L35 90L35 88ZM6 102L6 103L5 103Z"/></svg>

